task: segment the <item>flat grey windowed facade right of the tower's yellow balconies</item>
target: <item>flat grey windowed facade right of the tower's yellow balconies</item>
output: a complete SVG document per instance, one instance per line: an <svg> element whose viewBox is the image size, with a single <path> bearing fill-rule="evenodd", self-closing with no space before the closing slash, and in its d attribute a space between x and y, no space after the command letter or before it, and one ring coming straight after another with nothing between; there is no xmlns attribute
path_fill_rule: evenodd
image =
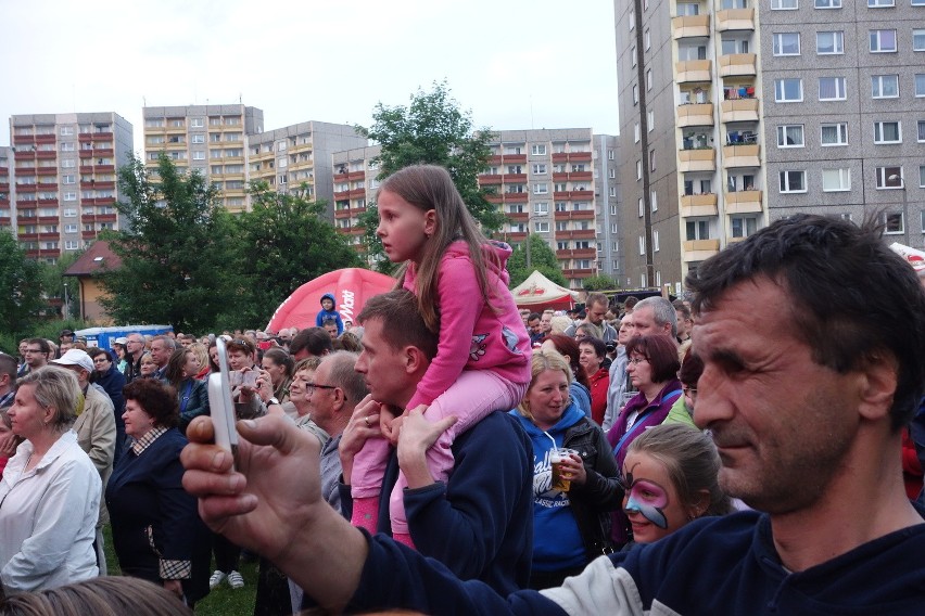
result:
<svg viewBox="0 0 925 616"><path fill-rule="evenodd" d="M923 247L925 0L761 2L769 214L856 221Z"/></svg>

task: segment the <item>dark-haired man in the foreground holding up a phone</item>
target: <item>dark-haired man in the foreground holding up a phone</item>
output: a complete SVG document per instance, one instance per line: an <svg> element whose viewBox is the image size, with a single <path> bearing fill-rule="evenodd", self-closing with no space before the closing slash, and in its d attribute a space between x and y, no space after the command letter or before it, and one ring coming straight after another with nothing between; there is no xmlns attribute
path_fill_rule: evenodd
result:
<svg viewBox="0 0 925 616"><path fill-rule="evenodd" d="M214 528L333 611L918 613L925 519L905 497L899 455L925 384L925 293L913 271L872 230L795 216L705 261L687 286L705 363L697 423L719 448L722 487L759 511L692 522L597 559L561 588L505 599L344 525L320 501L317 465L292 493L286 477L304 474L317 445L281 420L240 425L231 473L227 452L202 445L203 419L183 451L185 486ZM262 524L296 505L284 524Z"/></svg>

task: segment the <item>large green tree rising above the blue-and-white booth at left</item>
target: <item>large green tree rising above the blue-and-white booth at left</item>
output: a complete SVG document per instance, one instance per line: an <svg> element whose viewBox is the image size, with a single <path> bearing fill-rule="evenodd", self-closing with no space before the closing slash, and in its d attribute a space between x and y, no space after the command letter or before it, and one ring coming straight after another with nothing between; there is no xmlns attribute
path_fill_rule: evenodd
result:
<svg viewBox="0 0 925 616"><path fill-rule="evenodd" d="M116 208L128 224L105 235L122 260L101 275L106 311L122 323L194 332L214 326L240 287L228 268L238 240L217 189L198 171L178 172L165 154L156 178L132 156L118 180L125 201Z"/></svg>

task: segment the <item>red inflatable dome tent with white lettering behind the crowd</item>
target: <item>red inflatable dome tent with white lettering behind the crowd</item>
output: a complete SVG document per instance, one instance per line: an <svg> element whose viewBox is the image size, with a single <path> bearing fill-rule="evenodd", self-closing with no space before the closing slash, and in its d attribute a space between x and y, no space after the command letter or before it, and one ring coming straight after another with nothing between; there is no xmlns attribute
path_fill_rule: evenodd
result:
<svg viewBox="0 0 925 616"><path fill-rule="evenodd" d="M265 329L279 332L282 328L314 328L315 317L321 309L321 296L326 293L334 296L334 307L341 319L353 321L367 299L394 286L394 278L379 272L360 268L334 270L293 291L276 309Z"/></svg>

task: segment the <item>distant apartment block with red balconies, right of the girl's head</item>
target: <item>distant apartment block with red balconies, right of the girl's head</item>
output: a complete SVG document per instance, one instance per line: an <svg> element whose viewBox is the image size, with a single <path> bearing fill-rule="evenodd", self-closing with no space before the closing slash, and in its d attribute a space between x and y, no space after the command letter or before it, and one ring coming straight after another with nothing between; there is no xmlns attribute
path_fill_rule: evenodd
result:
<svg viewBox="0 0 925 616"><path fill-rule="evenodd" d="M616 139L595 137L590 128L495 134L479 183L495 189L489 201L508 218L496 236L511 245L529 233L543 238L572 288L598 272L619 273Z"/></svg>

